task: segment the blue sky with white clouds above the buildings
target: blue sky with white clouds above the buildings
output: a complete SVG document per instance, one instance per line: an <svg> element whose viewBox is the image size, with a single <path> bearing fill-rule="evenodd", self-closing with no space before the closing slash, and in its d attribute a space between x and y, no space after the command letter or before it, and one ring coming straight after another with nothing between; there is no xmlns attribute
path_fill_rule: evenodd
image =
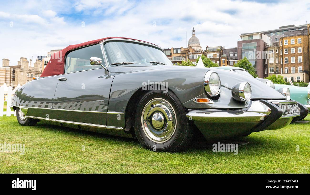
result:
<svg viewBox="0 0 310 195"><path fill-rule="evenodd" d="M236 47L241 33L310 22L310 2L278 0L0 0L0 59L17 65L53 49L108 36L187 47ZM0 61L2 66L2 61Z"/></svg>

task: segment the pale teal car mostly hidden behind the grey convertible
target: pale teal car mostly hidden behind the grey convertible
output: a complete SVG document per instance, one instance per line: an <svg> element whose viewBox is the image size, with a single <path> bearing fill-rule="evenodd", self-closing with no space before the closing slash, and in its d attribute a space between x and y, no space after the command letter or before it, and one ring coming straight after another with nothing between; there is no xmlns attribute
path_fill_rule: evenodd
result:
<svg viewBox="0 0 310 195"><path fill-rule="evenodd" d="M223 70L231 70L231 71L243 74L245 76L253 77L247 70L243 68L239 68L239 67L218 66L214 68L223 69ZM283 94L284 96L286 95L290 96L291 100L295 100L303 104L304 106L308 108L310 112L310 88L309 87L298 87L298 86L291 86L291 85L285 85L285 84L274 84L272 81L266 78L256 78L256 79L274 88L275 90L277 90L279 93Z"/></svg>

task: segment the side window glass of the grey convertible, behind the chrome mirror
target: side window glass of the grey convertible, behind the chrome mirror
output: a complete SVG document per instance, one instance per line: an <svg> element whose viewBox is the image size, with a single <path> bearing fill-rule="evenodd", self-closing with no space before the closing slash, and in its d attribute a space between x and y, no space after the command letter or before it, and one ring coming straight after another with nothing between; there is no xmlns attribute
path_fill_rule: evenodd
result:
<svg viewBox="0 0 310 195"><path fill-rule="evenodd" d="M64 73L101 68L102 66L94 66L89 63L91 57L99 57L103 60L99 44L70 52L66 57Z"/></svg>

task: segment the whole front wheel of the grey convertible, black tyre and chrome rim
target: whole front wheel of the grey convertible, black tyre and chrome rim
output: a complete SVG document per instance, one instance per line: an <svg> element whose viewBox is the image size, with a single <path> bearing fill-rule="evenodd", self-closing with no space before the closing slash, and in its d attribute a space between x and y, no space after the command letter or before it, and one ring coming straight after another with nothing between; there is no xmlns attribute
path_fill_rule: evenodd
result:
<svg viewBox="0 0 310 195"><path fill-rule="evenodd" d="M193 133L193 123L171 91L149 91L140 97L135 113L135 134L146 148L176 152L188 146Z"/></svg>

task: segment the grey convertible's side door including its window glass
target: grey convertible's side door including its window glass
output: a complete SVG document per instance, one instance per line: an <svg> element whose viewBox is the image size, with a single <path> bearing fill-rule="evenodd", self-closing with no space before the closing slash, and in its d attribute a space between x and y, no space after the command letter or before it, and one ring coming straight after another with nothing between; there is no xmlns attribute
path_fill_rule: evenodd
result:
<svg viewBox="0 0 310 195"><path fill-rule="evenodd" d="M55 119L89 126L106 125L113 75L108 75L101 66L90 65L91 57L103 59L100 45L66 55L65 72L55 78L58 79L53 104Z"/></svg>

